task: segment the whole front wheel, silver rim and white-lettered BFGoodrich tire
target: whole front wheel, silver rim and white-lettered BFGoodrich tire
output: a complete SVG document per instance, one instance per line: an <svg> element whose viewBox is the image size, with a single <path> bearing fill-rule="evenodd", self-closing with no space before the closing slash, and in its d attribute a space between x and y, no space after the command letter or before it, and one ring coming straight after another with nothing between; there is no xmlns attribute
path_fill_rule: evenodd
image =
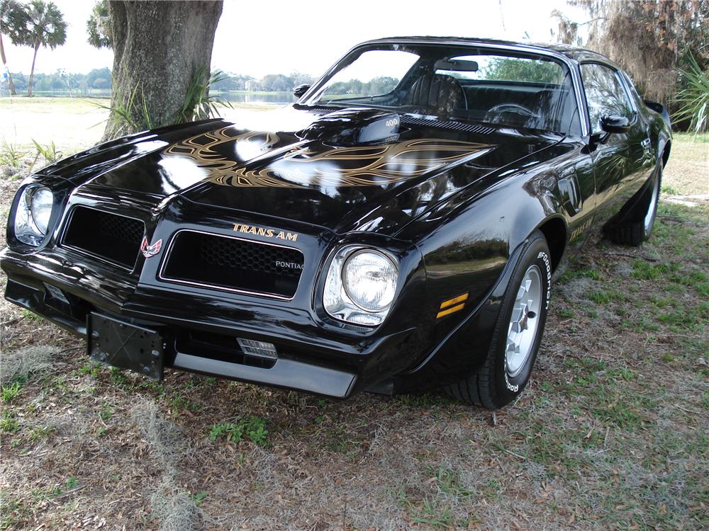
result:
<svg viewBox="0 0 709 531"><path fill-rule="evenodd" d="M552 265L549 246L533 232L515 266L484 365L446 388L455 399L498 409L527 386L549 309Z"/></svg>

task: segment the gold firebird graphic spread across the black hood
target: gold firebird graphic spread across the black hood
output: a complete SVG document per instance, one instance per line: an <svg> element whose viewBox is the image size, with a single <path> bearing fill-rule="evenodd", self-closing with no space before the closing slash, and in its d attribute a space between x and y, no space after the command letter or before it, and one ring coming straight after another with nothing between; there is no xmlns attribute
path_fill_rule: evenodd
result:
<svg viewBox="0 0 709 531"><path fill-rule="evenodd" d="M208 171L208 181L231 186L301 187L385 185L423 175L458 161L471 160L491 144L418 138L375 146L294 147L263 167L250 169L249 159L268 153L279 141L272 132L238 132L233 126L191 137L164 150L165 156L192 159ZM225 152L218 149L231 144ZM284 146L287 147L287 146ZM250 154L250 156L242 156ZM241 159L241 160L238 160Z"/></svg>

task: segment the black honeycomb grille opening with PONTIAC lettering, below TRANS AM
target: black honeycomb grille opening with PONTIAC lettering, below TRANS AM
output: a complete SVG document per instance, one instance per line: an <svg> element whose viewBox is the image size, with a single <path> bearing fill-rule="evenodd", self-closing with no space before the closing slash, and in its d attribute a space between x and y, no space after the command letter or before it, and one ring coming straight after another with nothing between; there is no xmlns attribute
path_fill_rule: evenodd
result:
<svg viewBox="0 0 709 531"><path fill-rule="evenodd" d="M302 272L298 249L183 230L174 237L161 278L290 299Z"/></svg>

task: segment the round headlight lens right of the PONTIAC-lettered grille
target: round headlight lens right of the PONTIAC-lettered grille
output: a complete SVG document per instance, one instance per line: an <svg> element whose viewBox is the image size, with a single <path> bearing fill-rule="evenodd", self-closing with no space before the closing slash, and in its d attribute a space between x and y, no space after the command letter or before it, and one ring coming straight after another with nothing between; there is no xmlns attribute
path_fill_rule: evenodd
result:
<svg viewBox="0 0 709 531"><path fill-rule="evenodd" d="M394 299L398 271L384 254L357 251L342 268L342 284L354 304L367 312L382 312Z"/></svg>

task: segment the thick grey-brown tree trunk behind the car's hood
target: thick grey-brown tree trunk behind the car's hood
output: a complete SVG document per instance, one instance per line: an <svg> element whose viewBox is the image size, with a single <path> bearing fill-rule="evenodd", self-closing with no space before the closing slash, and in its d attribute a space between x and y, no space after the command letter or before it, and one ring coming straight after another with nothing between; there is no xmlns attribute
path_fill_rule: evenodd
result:
<svg viewBox="0 0 709 531"><path fill-rule="evenodd" d="M104 139L175 123L194 76L209 73L222 2L112 0L109 9L113 112Z"/></svg>

